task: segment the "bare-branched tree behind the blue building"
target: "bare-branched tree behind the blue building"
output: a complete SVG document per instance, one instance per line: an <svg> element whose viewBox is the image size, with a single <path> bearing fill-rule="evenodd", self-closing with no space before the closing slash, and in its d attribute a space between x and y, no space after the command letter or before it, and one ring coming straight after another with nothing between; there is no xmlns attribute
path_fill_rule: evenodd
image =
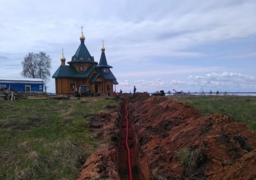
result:
<svg viewBox="0 0 256 180"><path fill-rule="evenodd" d="M38 54L29 52L24 57L24 60L21 61L23 70L20 74L22 77L40 78L44 80L44 83L47 83L51 76L51 63L52 59L44 51Z"/></svg>

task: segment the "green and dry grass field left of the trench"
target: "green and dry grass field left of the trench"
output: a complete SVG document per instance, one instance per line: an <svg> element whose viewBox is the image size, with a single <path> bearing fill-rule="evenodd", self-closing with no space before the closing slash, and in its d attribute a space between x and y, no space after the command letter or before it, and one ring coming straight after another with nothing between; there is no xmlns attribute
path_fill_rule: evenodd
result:
<svg viewBox="0 0 256 180"><path fill-rule="evenodd" d="M102 143L90 138L84 116L117 103L105 97L0 101L0 179L76 179Z"/></svg>

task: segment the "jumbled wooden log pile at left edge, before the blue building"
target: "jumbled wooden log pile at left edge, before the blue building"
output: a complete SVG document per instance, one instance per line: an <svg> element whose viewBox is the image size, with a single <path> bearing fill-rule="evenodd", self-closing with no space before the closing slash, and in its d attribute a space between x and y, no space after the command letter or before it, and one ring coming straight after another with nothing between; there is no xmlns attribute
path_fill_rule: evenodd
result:
<svg viewBox="0 0 256 180"><path fill-rule="evenodd" d="M4 88L0 89L0 100L24 100L26 96L24 94L18 93L14 89Z"/></svg>

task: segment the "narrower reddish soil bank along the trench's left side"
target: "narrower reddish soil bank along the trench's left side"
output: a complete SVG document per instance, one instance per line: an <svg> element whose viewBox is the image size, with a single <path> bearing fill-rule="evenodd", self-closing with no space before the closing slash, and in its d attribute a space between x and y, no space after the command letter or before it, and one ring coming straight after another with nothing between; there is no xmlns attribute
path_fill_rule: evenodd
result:
<svg viewBox="0 0 256 180"><path fill-rule="evenodd" d="M107 106L108 109L113 109ZM119 109L116 107L119 111ZM118 180L118 141L120 113L91 114L91 123L85 128L93 131L93 139L102 140L96 154L90 155L83 166L78 180Z"/></svg>

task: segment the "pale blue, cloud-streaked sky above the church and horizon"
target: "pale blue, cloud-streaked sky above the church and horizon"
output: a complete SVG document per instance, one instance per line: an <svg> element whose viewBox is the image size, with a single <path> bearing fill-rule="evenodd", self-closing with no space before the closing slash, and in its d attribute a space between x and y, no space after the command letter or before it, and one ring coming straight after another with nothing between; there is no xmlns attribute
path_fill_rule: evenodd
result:
<svg viewBox="0 0 256 180"><path fill-rule="evenodd" d="M104 40L116 91L256 92L255 0L1 0L0 77L21 77L39 51L54 74L81 26L98 63Z"/></svg>

